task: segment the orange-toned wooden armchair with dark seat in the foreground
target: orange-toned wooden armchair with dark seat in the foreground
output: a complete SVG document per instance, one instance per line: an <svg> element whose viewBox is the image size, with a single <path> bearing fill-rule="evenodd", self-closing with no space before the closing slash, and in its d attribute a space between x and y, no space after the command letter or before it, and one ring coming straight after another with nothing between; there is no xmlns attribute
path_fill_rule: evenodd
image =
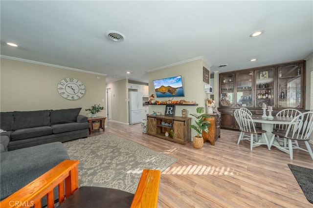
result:
<svg viewBox="0 0 313 208"><path fill-rule="evenodd" d="M1 208L54 208L53 188L59 190L59 207L156 208L161 171L144 169L135 194L105 187L78 188L79 161L65 160L0 202ZM108 202L113 204L108 205ZM106 204L103 204L106 203Z"/></svg>

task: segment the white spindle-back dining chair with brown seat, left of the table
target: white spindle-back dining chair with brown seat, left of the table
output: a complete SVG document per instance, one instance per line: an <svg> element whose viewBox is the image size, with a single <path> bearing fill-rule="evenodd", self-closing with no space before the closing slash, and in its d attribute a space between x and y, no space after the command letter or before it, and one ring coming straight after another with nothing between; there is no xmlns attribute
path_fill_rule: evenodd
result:
<svg viewBox="0 0 313 208"><path fill-rule="evenodd" d="M250 150L252 151L253 144L258 144L258 135L264 136L266 140L266 144L269 150L268 137L266 135L266 131L256 128L253 122L253 119L245 110L237 109L234 112L235 119L237 124L239 125L240 131L242 132L241 136L238 138L237 145L239 145L241 140L250 141ZM250 137L244 137L245 133L249 134Z"/></svg>

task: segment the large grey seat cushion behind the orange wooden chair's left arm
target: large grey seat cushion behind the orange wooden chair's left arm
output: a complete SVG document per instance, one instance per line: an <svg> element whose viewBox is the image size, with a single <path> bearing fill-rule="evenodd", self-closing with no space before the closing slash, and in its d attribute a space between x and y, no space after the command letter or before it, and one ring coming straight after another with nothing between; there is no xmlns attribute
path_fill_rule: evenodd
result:
<svg viewBox="0 0 313 208"><path fill-rule="evenodd" d="M3 152L0 159L2 200L52 167L68 160L69 156L63 144L55 142Z"/></svg>

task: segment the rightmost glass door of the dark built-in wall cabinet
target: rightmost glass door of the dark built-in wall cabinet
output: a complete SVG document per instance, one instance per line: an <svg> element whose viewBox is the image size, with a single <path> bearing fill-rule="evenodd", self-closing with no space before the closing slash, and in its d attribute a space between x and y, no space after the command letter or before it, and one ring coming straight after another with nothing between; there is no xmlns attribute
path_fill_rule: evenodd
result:
<svg viewBox="0 0 313 208"><path fill-rule="evenodd" d="M278 106L279 108L302 108L303 63L278 67Z"/></svg>

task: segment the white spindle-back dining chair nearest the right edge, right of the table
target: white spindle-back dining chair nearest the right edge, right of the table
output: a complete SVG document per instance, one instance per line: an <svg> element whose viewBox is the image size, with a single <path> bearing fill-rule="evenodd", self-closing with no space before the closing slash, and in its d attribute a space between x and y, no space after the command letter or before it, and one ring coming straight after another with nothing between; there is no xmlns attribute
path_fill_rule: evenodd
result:
<svg viewBox="0 0 313 208"><path fill-rule="evenodd" d="M300 149L306 152L309 152L312 160L313 153L311 146L309 144L310 135L313 132L313 111L301 113L300 115L295 116L291 123L287 125L286 131L273 130L273 136L270 140L269 146L272 146L274 139L284 138L288 141L288 146L284 146L288 154L290 154L290 159L293 159L293 149ZM276 137L276 138L275 138ZM307 149L304 149L299 146L294 146L293 141L303 141Z"/></svg>

